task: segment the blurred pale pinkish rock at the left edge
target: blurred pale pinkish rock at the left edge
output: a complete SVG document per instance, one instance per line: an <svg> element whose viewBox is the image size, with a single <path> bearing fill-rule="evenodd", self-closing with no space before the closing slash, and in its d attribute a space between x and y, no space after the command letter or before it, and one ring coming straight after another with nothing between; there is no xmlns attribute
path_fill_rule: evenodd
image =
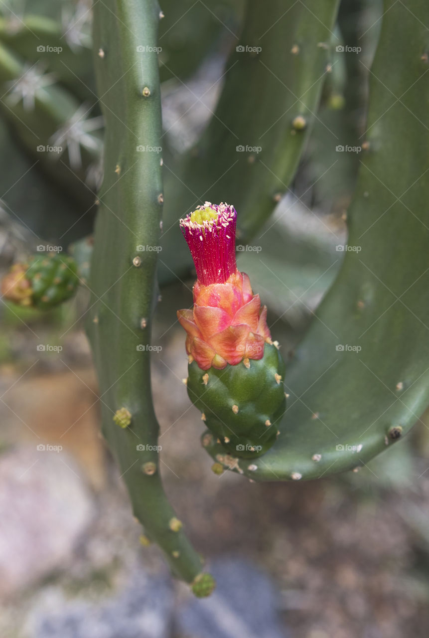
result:
<svg viewBox="0 0 429 638"><path fill-rule="evenodd" d="M67 568L93 516L78 471L69 455L36 444L0 456L0 597Z"/></svg>

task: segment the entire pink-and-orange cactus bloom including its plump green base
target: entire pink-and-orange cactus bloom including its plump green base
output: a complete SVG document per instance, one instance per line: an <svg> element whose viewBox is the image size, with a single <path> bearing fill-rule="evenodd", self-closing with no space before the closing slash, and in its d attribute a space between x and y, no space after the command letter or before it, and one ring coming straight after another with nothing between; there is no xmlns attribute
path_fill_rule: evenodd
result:
<svg viewBox="0 0 429 638"><path fill-rule="evenodd" d="M197 281L193 309L179 310L187 332L187 391L207 427L234 456L266 452L284 413L284 362L266 306L235 260L236 212L205 202L180 220Z"/></svg>

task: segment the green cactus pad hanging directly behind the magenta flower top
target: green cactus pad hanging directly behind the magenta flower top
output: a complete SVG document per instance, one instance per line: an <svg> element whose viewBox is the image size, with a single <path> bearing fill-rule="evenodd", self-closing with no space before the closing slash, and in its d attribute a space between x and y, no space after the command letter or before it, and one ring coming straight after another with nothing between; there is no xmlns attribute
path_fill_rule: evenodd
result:
<svg viewBox="0 0 429 638"><path fill-rule="evenodd" d="M161 281L192 266L175 222L201 199L234 202L244 244L289 188L330 69L326 43L337 8L338 0L247 1L214 117L196 147L167 165L166 191L177 196L164 211L171 230L163 237Z"/></svg>

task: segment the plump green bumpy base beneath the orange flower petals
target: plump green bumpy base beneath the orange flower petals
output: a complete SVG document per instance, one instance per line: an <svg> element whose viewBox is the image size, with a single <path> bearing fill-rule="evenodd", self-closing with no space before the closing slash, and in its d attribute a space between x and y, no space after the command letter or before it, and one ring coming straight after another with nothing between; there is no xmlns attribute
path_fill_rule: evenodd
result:
<svg viewBox="0 0 429 638"><path fill-rule="evenodd" d="M265 344L262 359L247 359L222 370L202 371L189 364L187 393L224 452L251 459L275 443L286 408L284 362L274 345Z"/></svg>

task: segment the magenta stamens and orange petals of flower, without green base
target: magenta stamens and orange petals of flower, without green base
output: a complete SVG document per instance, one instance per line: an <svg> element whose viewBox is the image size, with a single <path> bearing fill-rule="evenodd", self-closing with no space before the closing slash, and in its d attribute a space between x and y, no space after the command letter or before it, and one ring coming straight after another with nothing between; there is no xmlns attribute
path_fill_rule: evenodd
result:
<svg viewBox="0 0 429 638"><path fill-rule="evenodd" d="M272 343L266 306L236 267L234 207L205 202L180 226L197 273L194 307L177 313L187 332L189 362L208 370L262 359L265 343Z"/></svg>

